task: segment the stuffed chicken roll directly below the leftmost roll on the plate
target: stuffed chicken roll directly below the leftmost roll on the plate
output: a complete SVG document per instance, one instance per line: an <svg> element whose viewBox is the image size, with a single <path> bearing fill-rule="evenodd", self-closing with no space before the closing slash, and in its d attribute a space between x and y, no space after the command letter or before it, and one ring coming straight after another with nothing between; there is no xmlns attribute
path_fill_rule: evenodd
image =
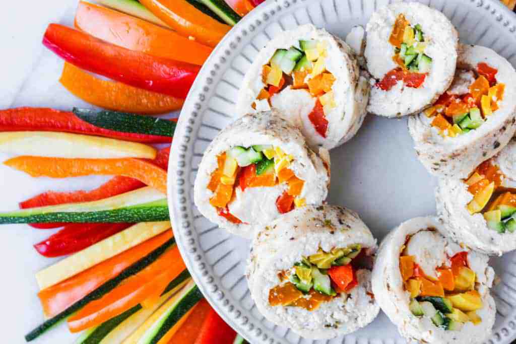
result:
<svg viewBox="0 0 516 344"><path fill-rule="evenodd" d="M376 239L358 215L306 206L269 223L253 240L247 279L256 307L305 338L328 339L373 321Z"/></svg>

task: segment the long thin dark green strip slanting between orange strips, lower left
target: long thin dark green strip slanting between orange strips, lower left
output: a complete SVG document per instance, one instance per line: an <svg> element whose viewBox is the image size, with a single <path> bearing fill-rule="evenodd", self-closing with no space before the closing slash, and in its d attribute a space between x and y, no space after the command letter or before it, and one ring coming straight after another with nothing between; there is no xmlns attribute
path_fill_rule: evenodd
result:
<svg viewBox="0 0 516 344"><path fill-rule="evenodd" d="M155 261L160 255L162 255L169 247L175 244L175 239L171 238L167 242L165 242L163 245L149 253L147 256L141 258L140 260L136 261L133 265L125 268L120 274L118 274L113 279L107 281L100 287L96 288L89 294L87 294L84 298L80 299L79 301L75 302L73 305L68 307L67 309L63 310L61 313L56 315L53 318L50 318L49 320L46 320L41 325L36 327L36 329L30 331L28 334L25 335L26 341L31 341L39 336L41 336L43 333L45 333L47 330L49 330L52 326L60 322L61 320L71 316L73 313L77 312L77 310L83 308L88 303L94 300L98 300L102 298L106 293L109 291L115 289L123 280L127 279L128 277L140 272L147 266L149 266L153 261Z"/></svg>

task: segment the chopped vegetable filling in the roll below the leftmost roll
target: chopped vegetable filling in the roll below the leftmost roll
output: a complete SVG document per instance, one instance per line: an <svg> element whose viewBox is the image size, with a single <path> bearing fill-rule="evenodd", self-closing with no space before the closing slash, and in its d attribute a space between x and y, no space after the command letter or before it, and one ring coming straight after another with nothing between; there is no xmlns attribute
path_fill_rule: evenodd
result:
<svg viewBox="0 0 516 344"><path fill-rule="evenodd" d="M278 274L281 283L269 290L269 304L311 311L322 302L349 293L358 285L352 262L361 251L361 245L354 244L329 252L319 249L317 253L303 257L292 269Z"/></svg>

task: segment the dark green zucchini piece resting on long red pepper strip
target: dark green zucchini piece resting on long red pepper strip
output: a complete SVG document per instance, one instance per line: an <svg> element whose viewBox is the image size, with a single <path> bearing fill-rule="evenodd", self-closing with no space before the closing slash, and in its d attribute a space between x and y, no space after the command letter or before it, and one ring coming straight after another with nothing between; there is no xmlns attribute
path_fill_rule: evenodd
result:
<svg viewBox="0 0 516 344"><path fill-rule="evenodd" d="M123 133L173 137L176 126L174 121L133 113L78 108L73 113L89 124Z"/></svg>

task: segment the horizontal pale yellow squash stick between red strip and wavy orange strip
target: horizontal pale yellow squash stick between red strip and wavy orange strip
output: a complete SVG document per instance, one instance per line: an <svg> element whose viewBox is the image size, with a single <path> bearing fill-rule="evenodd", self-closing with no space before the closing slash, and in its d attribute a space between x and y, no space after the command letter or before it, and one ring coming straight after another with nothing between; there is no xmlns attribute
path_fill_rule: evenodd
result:
<svg viewBox="0 0 516 344"><path fill-rule="evenodd" d="M57 132L0 133L0 152L57 158L156 157L156 149L147 144Z"/></svg>

